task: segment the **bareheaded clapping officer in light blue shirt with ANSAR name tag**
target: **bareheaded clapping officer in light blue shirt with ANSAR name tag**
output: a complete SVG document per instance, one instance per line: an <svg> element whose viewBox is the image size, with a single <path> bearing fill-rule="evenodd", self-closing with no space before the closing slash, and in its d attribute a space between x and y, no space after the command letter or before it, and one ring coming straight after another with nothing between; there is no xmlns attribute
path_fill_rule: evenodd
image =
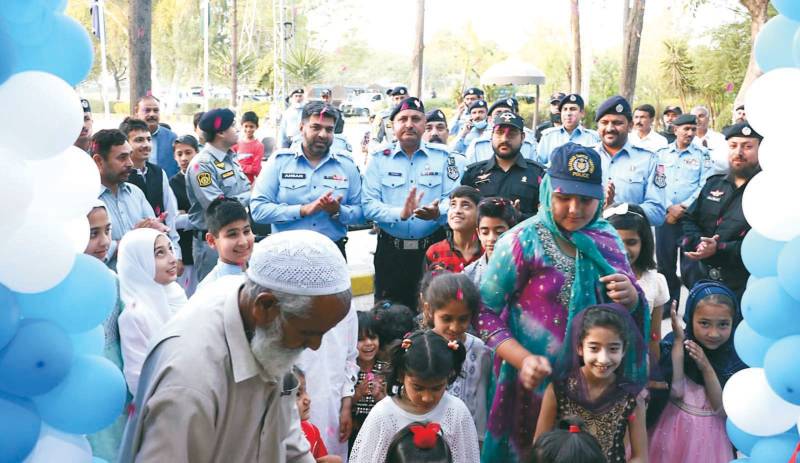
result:
<svg viewBox="0 0 800 463"><path fill-rule="evenodd" d="M302 142L278 151L258 176L250 201L253 220L275 232L313 230L345 254L347 225L362 223L361 175L353 159L334 151L338 111L322 102L303 108Z"/></svg>

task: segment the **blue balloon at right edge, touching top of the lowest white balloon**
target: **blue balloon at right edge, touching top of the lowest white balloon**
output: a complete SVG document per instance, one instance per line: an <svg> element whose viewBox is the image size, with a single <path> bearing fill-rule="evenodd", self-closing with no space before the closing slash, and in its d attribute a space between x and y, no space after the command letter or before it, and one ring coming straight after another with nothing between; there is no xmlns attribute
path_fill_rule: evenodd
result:
<svg viewBox="0 0 800 463"><path fill-rule="evenodd" d="M767 382L783 400L800 405L800 336L787 336L775 341L764 357Z"/></svg>

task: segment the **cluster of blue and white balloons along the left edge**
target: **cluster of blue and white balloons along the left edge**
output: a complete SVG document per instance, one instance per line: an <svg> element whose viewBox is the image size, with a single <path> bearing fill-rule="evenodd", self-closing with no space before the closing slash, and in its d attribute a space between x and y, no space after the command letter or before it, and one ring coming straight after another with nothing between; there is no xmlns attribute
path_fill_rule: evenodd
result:
<svg viewBox="0 0 800 463"><path fill-rule="evenodd" d="M72 143L72 85L92 64L66 0L0 9L0 462L87 462L85 434L119 416L125 380L105 357L114 275L82 254L100 177Z"/></svg>

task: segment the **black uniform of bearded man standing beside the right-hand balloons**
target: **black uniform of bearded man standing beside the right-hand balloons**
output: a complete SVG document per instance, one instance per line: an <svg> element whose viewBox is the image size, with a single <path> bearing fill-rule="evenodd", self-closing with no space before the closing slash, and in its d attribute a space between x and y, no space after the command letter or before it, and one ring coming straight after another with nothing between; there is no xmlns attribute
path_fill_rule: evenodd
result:
<svg viewBox="0 0 800 463"><path fill-rule="evenodd" d="M683 220L683 250L695 251L700 237L719 235L717 252L701 262L709 277L721 280L731 289L747 284L750 273L742 263L742 241L750 225L742 211L742 194L747 183L736 187L732 174L708 178L697 200Z"/></svg>

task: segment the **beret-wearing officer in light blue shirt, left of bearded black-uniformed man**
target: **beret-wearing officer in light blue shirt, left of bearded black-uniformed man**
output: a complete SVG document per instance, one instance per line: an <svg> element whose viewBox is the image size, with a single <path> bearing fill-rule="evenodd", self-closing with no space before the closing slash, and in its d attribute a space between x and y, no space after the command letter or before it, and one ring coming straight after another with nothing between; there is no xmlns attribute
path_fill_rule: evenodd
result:
<svg viewBox="0 0 800 463"><path fill-rule="evenodd" d="M683 215L700 195L706 179L714 173L709 151L693 143L697 133L697 117L683 114L672 121L675 141L658 151L664 166L667 216L656 228L656 260L658 271L667 279L670 297L680 300L681 280L676 274L678 246L683 236Z"/></svg>

